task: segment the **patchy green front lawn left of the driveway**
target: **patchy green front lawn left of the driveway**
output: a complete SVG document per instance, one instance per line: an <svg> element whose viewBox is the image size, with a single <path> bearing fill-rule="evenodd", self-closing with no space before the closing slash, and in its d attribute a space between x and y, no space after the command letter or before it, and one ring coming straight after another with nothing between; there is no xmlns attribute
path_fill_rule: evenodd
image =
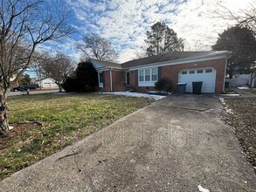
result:
<svg viewBox="0 0 256 192"><path fill-rule="evenodd" d="M15 127L21 121L37 120L43 126L31 125L22 135L5 141L8 150L0 152L0 179L151 102L145 98L98 93L38 94L10 98L10 124Z"/></svg>

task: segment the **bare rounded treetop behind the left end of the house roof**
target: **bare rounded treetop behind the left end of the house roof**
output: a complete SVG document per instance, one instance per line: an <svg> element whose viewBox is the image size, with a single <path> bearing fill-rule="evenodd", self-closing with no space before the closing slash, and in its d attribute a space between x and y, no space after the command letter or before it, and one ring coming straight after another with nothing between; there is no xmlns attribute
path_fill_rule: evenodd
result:
<svg viewBox="0 0 256 192"><path fill-rule="evenodd" d="M95 33L88 34L82 42L77 44L77 49L82 51L86 58L113 61L117 56L111 42L106 38L100 38Z"/></svg>

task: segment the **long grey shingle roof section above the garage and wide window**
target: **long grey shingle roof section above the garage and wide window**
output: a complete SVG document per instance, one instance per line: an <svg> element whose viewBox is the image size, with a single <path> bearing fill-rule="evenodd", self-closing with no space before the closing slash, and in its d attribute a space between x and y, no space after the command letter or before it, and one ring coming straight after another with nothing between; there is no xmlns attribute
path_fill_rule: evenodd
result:
<svg viewBox="0 0 256 192"><path fill-rule="evenodd" d="M121 68L149 65L165 61L175 61L189 58L206 58L210 56L225 55L228 53L229 51L170 51L161 55L154 55L147 58L130 60L128 62L122 63Z"/></svg>

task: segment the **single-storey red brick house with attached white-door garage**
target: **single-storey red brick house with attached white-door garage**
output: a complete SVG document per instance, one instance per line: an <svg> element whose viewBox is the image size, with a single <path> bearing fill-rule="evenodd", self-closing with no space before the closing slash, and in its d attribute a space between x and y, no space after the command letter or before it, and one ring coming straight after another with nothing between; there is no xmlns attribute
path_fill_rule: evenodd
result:
<svg viewBox="0 0 256 192"><path fill-rule="evenodd" d="M122 64L90 60L98 72L99 91L151 91L158 79L166 77L174 92L177 83L187 83L186 92L192 93L192 82L203 81L202 93L222 93L230 55L231 51L171 51Z"/></svg>

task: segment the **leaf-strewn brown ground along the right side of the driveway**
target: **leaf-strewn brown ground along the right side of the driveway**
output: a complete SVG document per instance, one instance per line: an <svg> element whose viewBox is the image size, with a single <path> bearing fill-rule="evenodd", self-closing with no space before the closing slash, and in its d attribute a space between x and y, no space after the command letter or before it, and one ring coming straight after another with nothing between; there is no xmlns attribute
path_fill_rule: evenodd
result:
<svg viewBox="0 0 256 192"><path fill-rule="evenodd" d="M256 99L226 98L225 103L232 111L225 113L223 120L234 127L246 158L256 173Z"/></svg>

